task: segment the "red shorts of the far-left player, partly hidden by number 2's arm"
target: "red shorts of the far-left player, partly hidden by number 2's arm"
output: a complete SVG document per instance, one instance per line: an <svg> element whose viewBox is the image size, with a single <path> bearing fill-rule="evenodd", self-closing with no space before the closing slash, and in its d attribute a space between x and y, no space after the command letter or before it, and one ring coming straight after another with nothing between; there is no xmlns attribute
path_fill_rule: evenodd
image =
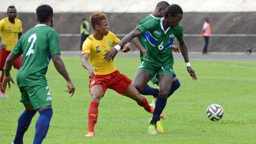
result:
<svg viewBox="0 0 256 144"><path fill-rule="evenodd" d="M9 53L11 53L11 51L0 49L0 71L4 70L3 68L5 65L5 61L9 55ZM15 59L14 64L13 64L15 69L20 69L20 67L22 65L22 59L23 59L22 55L19 56L17 59Z"/></svg>

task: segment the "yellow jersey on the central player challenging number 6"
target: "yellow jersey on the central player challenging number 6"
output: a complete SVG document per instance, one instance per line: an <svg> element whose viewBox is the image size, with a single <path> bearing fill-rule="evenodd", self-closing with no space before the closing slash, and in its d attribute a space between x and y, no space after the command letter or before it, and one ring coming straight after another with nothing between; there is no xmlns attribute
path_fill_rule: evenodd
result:
<svg viewBox="0 0 256 144"><path fill-rule="evenodd" d="M116 46L120 42L120 39L115 34L108 32L107 36L103 37L103 40L96 40L91 34L84 41L82 45L82 55L89 53L89 60L93 68L98 69L95 75L108 75L116 71L113 60L110 62L104 61L104 55Z"/></svg>

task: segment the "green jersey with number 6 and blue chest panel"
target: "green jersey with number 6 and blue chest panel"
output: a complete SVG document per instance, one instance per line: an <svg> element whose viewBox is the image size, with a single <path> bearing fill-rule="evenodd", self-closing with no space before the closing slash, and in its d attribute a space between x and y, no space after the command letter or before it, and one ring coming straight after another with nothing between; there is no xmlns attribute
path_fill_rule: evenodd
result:
<svg viewBox="0 0 256 144"><path fill-rule="evenodd" d="M155 67L172 67L174 59L171 46L175 37L178 41L183 41L183 27L178 24L164 30L163 20L164 18L154 18L137 25L146 40L144 44L147 47L147 55L143 61L149 62Z"/></svg>

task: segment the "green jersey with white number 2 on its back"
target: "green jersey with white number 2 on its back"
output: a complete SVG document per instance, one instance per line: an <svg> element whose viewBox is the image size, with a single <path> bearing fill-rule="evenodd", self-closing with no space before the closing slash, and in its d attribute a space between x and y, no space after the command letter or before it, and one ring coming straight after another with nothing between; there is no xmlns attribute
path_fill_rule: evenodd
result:
<svg viewBox="0 0 256 144"><path fill-rule="evenodd" d="M55 29L37 24L18 40L12 52L23 54L23 63L17 74L18 87L47 85L46 72L53 55L60 55L59 36Z"/></svg>

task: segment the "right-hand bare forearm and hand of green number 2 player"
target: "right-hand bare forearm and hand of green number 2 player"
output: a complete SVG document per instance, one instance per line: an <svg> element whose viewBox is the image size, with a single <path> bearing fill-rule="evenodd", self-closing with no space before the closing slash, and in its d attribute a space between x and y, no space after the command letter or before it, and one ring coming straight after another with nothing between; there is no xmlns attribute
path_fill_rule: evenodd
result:
<svg viewBox="0 0 256 144"><path fill-rule="evenodd" d="M62 59L60 58L59 55L53 55L52 60L53 60L53 63L55 65L55 68L57 69L57 71L60 73L60 75L63 76L63 78L66 79L66 81L68 83L68 90L65 90L65 91L69 92L69 94L71 94L71 97L72 97L73 94L75 93L75 87L73 86L72 81L69 78L68 72L66 71L66 68L65 68L65 65L64 65Z"/></svg>

